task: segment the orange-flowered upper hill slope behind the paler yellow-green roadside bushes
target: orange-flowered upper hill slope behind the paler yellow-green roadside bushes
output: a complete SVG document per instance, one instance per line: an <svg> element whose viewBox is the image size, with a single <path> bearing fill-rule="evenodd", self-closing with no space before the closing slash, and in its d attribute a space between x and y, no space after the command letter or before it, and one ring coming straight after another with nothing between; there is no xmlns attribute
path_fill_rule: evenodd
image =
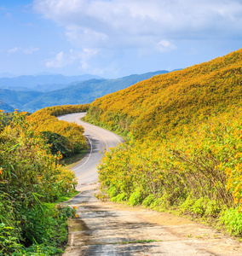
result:
<svg viewBox="0 0 242 256"><path fill-rule="evenodd" d="M174 132L195 119L240 106L241 68L239 49L101 97L91 104L89 117L112 129L131 131L135 137Z"/></svg>

